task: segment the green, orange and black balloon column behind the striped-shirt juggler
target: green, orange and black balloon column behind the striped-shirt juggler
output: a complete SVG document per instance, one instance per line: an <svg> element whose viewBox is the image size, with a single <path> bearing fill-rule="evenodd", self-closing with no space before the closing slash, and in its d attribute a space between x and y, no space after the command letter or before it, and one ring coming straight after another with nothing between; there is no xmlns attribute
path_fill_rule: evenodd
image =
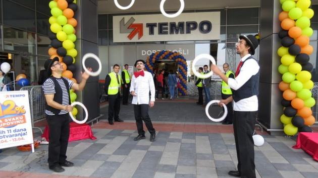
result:
<svg viewBox="0 0 318 178"><path fill-rule="evenodd" d="M74 19L77 11L76 0L54 0L48 4L51 9L51 17L48 19L50 31L48 37L51 40L51 48L48 49L50 59L58 57L63 66L62 76L77 82L73 77L76 71L75 57L77 50L75 28L77 21ZM70 90L71 102L75 102L77 95ZM73 116L77 115L77 109L72 111Z"/></svg>

